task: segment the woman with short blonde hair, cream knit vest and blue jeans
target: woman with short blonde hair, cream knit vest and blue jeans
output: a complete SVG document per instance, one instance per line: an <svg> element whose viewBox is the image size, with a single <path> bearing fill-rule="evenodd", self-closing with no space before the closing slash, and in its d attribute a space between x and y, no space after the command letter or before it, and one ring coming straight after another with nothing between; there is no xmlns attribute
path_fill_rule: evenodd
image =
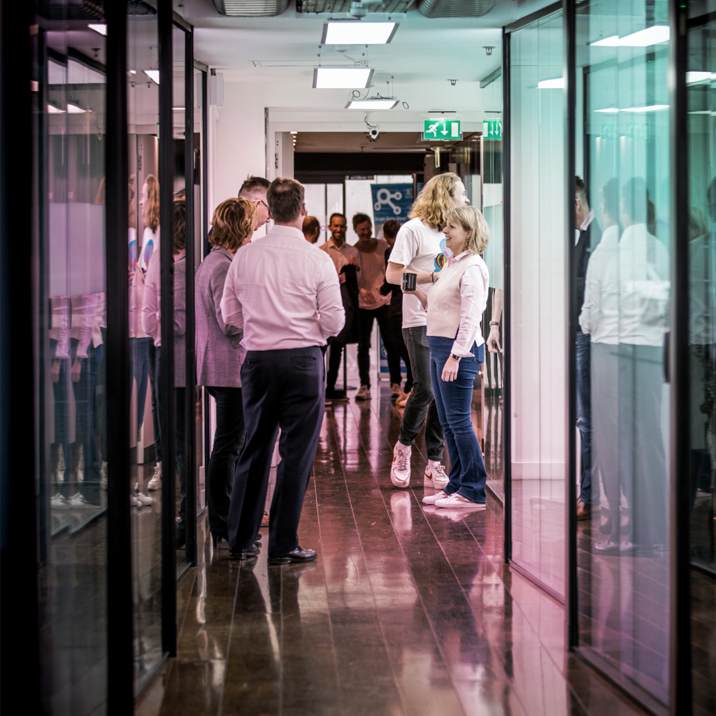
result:
<svg viewBox="0 0 716 716"><path fill-rule="evenodd" d="M490 276L480 253L488 246L490 229L474 206L454 208L445 218L445 244L452 256L439 274L430 275L430 294L417 287L415 295L427 309L430 378L448 443L450 481L422 501L437 507L474 508L485 505L487 480L470 405L475 373L485 360L480 321Z"/></svg>

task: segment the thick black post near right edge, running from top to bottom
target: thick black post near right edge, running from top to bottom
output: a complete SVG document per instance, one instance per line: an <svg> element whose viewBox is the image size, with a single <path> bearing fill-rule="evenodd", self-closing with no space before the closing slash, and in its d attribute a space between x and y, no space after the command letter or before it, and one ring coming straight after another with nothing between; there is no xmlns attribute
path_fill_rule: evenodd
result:
<svg viewBox="0 0 716 716"><path fill-rule="evenodd" d="M669 597L669 709L690 714L691 575L690 575L690 375L689 375L689 152L687 145L687 9L669 1L669 104L671 105L671 499Z"/></svg>

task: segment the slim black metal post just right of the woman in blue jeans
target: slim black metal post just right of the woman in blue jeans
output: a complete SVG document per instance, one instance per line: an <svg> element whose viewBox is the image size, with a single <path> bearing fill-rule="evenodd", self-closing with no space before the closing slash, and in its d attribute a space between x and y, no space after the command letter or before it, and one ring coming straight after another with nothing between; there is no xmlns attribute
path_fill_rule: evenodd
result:
<svg viewBox="0 0 716 716"><path fill-rule="evenodd" d="M510 33L502 31L502 77L503 77L503 121L502 121L502 226L503 226L503 299L502 324L502 424L504 450L504 521L505 521L505 563L512 558L512 425L511 425L511 251L510 251L510 135L511 135L511 96L510 96Z"/></svg>

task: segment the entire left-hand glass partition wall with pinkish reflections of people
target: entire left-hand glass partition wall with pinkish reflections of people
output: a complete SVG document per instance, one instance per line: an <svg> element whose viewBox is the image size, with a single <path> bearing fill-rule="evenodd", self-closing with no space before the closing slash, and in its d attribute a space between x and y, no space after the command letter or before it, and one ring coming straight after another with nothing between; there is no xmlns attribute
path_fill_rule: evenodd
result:
<svg viewBox="0 0 716 716"><path fill-rule="evenodd" d="M194 69L191 27L168 1L156 6L41 3L33 25L39 674L48 714L131 708L176 652L176 581L196 561L203 433L192 318L205 112L194 89L205 101L205 72ZM169 291L161 223L172 268L186 266ZM173 310L161 310L162 294ZM174 367L173 400L161 387L162 352ZM168 403L176 420L163 429ZM177 470L163 470L168 445ZM177 498L169 505L168 484Z"/></svg>

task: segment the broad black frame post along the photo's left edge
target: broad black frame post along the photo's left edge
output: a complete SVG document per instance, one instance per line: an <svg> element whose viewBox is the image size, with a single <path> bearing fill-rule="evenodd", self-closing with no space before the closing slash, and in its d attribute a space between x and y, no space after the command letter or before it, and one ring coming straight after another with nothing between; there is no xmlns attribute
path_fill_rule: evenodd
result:
<svg viewBox="0 0 716 716"><path fill-rule="evenodd" d="M23 684L23 710L42 712L37 589L33 274L27 236L32 214L33 5L0 6L0 574L4 614L23 630L4 682ZM37 26L34 27L37 34ZM33 233L37 236L37 225ZM37 316L37 314L36 314ZM33 351L34 352L34 351ZM37 355L37 353L35 352ZM10 588L10 584L12 587Z"/></svg>

